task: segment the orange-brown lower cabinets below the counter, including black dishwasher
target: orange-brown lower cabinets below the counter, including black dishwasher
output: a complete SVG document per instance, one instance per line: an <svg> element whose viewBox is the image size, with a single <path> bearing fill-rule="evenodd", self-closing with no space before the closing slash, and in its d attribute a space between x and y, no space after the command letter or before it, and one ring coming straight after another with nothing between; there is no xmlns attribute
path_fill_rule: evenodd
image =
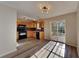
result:
<svg viewBox="0 0 79 59"><path fill-rule="evenodd" d="M17 36L17 41L18 41L19 40L19 33L18 32L17 32L16 36ZM44 40L44 32L43 31L39 31L39 32L27 31L27 38Z"/></svg>

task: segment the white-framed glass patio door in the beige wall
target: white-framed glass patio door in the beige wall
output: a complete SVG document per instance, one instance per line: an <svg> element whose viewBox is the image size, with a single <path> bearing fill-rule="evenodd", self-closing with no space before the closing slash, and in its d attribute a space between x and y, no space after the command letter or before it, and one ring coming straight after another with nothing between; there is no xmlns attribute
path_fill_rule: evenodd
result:
<svg viewBox="0 0 79 59"><path fill-rule="evenodd" d="M50 39L65 43L65 20L50 23Z"/></svg>

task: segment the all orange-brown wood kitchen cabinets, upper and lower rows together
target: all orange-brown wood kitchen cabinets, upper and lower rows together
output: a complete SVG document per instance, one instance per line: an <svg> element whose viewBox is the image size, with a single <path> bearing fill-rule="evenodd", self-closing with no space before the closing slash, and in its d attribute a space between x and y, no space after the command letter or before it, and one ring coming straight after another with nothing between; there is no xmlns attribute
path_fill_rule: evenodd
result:
<svg viewBox="0 0 79 59"><path fill-rule="evenodd" d="M37 29L37 23L39 23L39 28ZM36 39L36 31L39 31L39 39L44 40L44 21L27 21L23 19L17 20L17 26L19 24L26 25L27 28L27 38L34 38ZM18 32L17 32L17 40L19 39Z"/></svg>

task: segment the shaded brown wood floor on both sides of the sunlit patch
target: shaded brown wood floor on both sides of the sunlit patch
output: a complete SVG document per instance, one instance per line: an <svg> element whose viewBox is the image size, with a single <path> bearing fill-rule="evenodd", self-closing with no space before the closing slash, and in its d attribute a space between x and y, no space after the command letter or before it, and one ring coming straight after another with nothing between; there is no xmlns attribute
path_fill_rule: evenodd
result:
<svg viewBox="0 0 79 59"><path fill-rule="evenodd" d="M25 40L25 41L26 42L24 42L24 44L21 44L20 46L18 46L17 51L15 51L11 54L8 54L6 56L3 56L3 58L29 58L32 55L34 55L36 52L38 52L43 46L45 46L49 42L49 41L40 42L39 40L30 40L30 41ZM22 41L22 43L23 43L23 41ZM56 42L56 43L58 43L58 42ZM57 49L59 49L59 47L57 47ZM77 58L78 57L76 47L65 44L64 52L65 52L64 58ZM52 53L56 54L55 52L52 52ZM60 56L60 55L58 55L58 56Z"/></svg>

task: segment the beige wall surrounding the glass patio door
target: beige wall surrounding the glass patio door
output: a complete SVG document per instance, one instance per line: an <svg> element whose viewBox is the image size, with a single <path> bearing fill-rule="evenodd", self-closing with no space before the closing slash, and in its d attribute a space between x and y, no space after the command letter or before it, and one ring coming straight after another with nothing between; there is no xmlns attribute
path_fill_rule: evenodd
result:
<svg viewBox="0 0 79 59"><path fill-rule="evenodd" d="M50 39L50 22L54 20L65 20L66 22L66 43L72 46L76 46L76 12L65 14L62 16L52 17L45 21L45 39Z"/></svg>

